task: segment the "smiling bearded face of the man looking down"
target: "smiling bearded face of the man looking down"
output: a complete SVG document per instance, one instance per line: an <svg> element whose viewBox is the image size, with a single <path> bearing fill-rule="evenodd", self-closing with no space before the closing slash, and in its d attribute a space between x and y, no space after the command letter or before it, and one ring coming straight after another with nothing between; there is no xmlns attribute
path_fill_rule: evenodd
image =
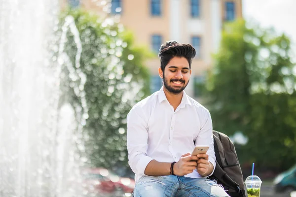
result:
<svg viewBox="0 0 296 197"><path fill-rule="evenodd" d="M179 94L187 86L191 74L186 58L174 57L164 68L159 68L159 75L163 78L163 85L170 93Z"/></svg>

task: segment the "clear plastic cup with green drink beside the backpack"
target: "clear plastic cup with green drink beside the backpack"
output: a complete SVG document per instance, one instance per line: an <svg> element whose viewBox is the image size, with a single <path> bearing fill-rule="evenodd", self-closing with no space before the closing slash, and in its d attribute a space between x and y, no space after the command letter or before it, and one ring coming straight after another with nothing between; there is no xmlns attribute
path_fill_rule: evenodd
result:
<svg viewBox="0 0 296 197"><path fill-rule="evenodd" d="M261 179L254 175L246 178L245 184L247 187L248 197L260 197Z"/></svg>

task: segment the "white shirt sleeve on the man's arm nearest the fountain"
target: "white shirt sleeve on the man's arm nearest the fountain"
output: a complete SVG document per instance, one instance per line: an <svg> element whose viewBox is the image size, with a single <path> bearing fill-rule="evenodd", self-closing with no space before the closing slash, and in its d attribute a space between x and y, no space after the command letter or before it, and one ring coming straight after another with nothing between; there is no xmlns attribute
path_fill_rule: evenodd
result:
<svg viewBox="0 0 296 197"><path fill-rule="evenodd" d="M128 163L135 174L144 174L148 163L148 131L142 108L133 107L127 115Z"/></svg>

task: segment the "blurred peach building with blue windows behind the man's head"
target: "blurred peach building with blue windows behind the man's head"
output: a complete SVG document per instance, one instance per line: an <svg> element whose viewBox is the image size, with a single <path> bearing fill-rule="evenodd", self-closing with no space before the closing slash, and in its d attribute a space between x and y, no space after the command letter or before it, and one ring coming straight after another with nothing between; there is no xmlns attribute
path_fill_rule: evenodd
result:
<svg viewBox="0 0 296 197"><path fill-rule="evenodd" d="M242 17L242 0L63 0L71 6L81 6L100 13L100 3L111 2L111 15L119 16L120 23L135 35L138 45L145 45L155 53L148 60L151 73L151 92L162 86L158 76L160 45L168 40L190 43L196 50L192 75L186 88L191 97L198 97L194 84L205 80L205 71L212 65L212 54L217 52L222 24Z"/></svg>

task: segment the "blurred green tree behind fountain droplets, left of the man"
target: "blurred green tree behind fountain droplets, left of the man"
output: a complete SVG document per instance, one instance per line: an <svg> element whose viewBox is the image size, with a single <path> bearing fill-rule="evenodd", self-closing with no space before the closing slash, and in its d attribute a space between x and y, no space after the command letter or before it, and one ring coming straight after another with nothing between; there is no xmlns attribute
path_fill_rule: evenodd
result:
<svg viewBox="0 0 296 197"><path fill-rule="evenodd" d="M134 47L132 34L111 20L75 9L63 13L61 26L68 15L74 17L82 45L80 68L75 69L86 75L84 91L89 109L83 133L88 139L85 152L91 155L92 166L111 168L126 175L124 172L130 169L126 115L137 101L149 94L149 73L144 66L149 54L143 48ZM74 65L77 40L70 31L64 50ZM68 77L71 72L66 68L63 71L64 88L73 87ZM83 105L72 89L66 92L62 102Z"/></svg>

